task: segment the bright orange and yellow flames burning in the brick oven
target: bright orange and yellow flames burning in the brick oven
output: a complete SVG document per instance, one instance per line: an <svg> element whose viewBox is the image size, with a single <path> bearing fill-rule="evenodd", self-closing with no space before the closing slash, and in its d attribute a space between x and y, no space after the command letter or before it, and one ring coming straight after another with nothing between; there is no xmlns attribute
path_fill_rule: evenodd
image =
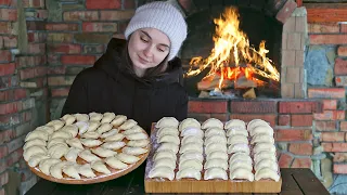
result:
<svg viewBox="0 0 347 195"><path fill-rule="evenodd" d="M236 81L241 76L255 81L257 86L262 86L264 81L254 78L254 74L275 81L280 80L279 72L271 64L272 61L266 56L269 50L265 48L265 41L260 42L259 50L249 47L247 36L239 29L239 14L234 8L226 9L222 17L215 18L214 22L217 25L216 35L213 38L215 48L207 58L197 56L191 60L187 77L198 75L210 67L204 79L213 79L216 75L220 75L219 89L222 88L223 79Z"/></svg>

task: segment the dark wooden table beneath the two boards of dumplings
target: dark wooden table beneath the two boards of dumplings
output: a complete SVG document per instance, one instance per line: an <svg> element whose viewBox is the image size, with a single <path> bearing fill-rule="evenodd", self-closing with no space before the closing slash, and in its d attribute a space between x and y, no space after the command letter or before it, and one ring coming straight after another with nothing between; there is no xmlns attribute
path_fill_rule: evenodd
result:
<svg viewBox="0 0 347 195"><path fill-rule="evenodd" d="M310 169L283 168L281 173L283 179L281 195L330 194ZM145 194L143 174L144 166L140 166L127 176L98 184L68 185L41 179L26 195L140 195Z"/></svg>

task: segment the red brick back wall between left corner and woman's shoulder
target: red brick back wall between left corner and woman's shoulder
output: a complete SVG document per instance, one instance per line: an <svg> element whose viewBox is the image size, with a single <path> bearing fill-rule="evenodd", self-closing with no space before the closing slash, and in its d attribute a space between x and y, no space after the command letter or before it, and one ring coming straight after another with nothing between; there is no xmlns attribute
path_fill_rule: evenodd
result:
<svg viewBox="0 0 347 195"><path fill-rule="evenodd" d="M121 35L133 15L136 1L86 0L72 4L60 1L62 18L48 21L48 87L51 116L57 117L75 76L104 53L110 39Z"/></svg>

